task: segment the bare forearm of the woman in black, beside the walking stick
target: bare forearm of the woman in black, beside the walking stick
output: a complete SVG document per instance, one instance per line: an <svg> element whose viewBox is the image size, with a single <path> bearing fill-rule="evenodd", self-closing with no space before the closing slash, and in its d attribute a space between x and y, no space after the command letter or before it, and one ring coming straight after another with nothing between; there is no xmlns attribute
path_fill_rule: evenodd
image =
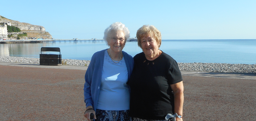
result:
<svg viewBox="0 0 256 121"><path fill-rule="evenodd" d="M171 84L171 89L174 93L174 113L177 113L178 115L182 116L183 101L184 101L183 81L176 84ZM182 121L182 118L176 117L176 121Z"/></svg>

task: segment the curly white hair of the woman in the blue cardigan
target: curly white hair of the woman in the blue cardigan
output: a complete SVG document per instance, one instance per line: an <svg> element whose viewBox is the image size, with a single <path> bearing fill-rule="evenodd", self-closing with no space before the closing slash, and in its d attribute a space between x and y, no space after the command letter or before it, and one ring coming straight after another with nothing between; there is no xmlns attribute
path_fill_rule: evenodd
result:
<svg viewBox="0 0 256 121"><path fill-rule="evenodd" d="M124 32L124 37L126 38L126 39L124 40L124 43L126 43L126 40L127 40L128 38L130 38L130 31L128 30L128 28L125 27L125 25L122 24L121 22L115 22L115 23L111 24L111 25L110 25L107 29L105 29L105 31L104 31L104 37L103 37L103 39L106 41L107 44L108 44L108 42L107 42L108 34L109 34L109 32L111 32L112 30L115 30L115 31L121 30L121 31Z"/></svg>

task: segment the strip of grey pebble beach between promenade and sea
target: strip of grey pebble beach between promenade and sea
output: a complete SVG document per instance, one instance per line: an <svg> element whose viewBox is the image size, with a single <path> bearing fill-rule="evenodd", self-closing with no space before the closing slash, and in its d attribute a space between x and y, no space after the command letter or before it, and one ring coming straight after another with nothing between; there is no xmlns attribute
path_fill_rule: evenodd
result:
<svg viewBox="0 0 256 121"><path fill-rule="evenodd" d="M24 58L0 56L0 62L39 63L39 58ZM62 59L63 65L89 66L89 60ZM230 63L180 63L181 71L207 71L207 72L235 72L256 73L256 64L230 64Z"/></svg>

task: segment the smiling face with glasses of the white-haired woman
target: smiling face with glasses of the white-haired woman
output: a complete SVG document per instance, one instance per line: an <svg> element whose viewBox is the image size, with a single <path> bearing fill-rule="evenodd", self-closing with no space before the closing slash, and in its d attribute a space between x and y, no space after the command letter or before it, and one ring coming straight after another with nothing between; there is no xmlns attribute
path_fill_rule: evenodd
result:
<svg viewBox="0 0 256 121"><path fill-rule="evenodd" d="M125 37L123 31L112 30L107 37L108 45L110 45L110 51L115 54L121 53L125 45Z"/></svg>

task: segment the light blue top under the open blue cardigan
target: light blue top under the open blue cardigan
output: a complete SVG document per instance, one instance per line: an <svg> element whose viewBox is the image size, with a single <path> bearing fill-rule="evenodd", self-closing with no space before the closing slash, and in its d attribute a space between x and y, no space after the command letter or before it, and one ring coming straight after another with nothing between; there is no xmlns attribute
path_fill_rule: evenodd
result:
<svg viewBox="0 0 256 121"><path fill-rule="evenodd" d="M124 59L114 63L106 50L97 109L129 110L130 91L127 81L128 72Z"/></svg>

